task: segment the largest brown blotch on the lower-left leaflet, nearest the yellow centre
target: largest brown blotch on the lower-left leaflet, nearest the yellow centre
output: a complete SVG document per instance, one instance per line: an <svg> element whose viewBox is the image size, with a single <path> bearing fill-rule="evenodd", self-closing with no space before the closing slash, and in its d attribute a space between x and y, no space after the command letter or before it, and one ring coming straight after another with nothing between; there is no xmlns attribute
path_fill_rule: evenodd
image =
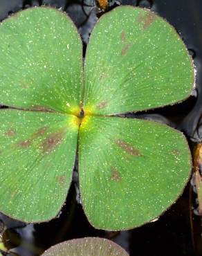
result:
<svg viewBox="0 0 202 256"><path fill-rule="evenodd" d="M62 143L63 139L64 139L64 134L61 132L50 134L42 143L42 149L44 154L53 152L55 147L57 147L57 145Z"/></svg>

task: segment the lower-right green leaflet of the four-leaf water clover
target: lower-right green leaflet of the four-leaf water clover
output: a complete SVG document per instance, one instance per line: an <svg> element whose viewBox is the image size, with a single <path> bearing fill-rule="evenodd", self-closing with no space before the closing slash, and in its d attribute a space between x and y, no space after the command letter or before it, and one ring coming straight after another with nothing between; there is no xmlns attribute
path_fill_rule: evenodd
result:
<svg viewBox="0 0 202 256"><path fill-rule="evenodd" d="M190 176L183 134L157 122L86 117L79 146L82 203L96 228L151 221L176 201Z"/></svg>

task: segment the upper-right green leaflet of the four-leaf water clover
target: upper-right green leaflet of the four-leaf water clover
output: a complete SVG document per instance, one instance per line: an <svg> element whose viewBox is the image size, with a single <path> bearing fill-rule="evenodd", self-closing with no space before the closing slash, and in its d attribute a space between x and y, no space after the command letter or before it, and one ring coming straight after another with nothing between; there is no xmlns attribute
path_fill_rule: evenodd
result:
<svg viewBox="0 0 202 256"><path fill-rule="evenodd" d="M150 10L122 6L93 29L84 81L86 111L111 115L184 100L194 68L172 26Z"/></svg>

